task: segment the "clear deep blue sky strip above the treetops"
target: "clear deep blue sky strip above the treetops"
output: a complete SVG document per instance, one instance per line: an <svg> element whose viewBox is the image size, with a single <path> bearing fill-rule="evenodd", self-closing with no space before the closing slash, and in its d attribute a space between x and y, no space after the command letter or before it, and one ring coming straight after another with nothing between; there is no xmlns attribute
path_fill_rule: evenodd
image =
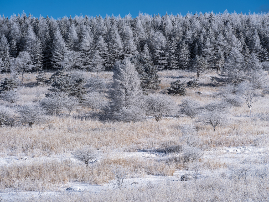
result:
<svg viewBox="0 0 269 202"><path fill-rule="evenodd" d="M70 0L0 0L0 13L5 17L10 17L14 12L22 13L24 11L27 15L31 13L33 16L52 16L53 18L62 18L63 16L75 15L101 15L106 14L117 16L120 14L124 17L129 12L133 17L137 16L139 12L148 13L150 15L158 14L164 15L166 12L175 15L196 11L215 13L224 12L225 9L229 13L236 11L237 13L248 13L249 10L253 12L268 12L268 0L211 0L211 1L197 1L197 0L168 0L168 1L141 1L141 0L121 0L121 1L70 1Z"/></svg>

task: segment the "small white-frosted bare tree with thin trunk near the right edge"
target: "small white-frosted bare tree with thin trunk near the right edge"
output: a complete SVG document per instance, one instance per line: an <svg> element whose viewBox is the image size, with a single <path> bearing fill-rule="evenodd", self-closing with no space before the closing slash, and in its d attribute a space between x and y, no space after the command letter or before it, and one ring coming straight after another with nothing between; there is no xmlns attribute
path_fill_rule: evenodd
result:
<svg viewBox="0 0 269 202"><path fill-rule="evenodd" d="M252 104L259 100L258 91L254 88L252 83L246 81L240 83L237 92L239 93L239 96L245 100L247 107L249 108L249 116L250 116Z"/></svg>

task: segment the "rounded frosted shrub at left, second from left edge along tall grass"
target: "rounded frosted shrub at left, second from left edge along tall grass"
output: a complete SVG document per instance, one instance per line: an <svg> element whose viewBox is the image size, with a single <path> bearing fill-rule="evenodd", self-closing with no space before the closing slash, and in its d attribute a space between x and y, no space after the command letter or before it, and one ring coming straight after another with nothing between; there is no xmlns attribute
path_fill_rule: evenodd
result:
<svg viewBox="0 0 269 202"><path fill-rule="evenodd" d="M17 112L19 112L19 120L22 123L28 123L29 127L33 124L42 123L46 120L44 116L45 111L42 107L36 105L23 105L18 107Z"/></svg>

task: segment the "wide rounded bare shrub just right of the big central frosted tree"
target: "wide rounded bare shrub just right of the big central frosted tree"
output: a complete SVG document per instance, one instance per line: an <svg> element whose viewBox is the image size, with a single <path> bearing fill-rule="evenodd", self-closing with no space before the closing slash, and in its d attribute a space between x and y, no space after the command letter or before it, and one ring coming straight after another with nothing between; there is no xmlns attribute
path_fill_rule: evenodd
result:
<svg viewBox="0 0 269 202"><path fill-rule="evenodd" d="M170 97L166 95L150 95L146 97L146 115L153 116L160 121L164 115L171 115L176 106Z"/></svg>

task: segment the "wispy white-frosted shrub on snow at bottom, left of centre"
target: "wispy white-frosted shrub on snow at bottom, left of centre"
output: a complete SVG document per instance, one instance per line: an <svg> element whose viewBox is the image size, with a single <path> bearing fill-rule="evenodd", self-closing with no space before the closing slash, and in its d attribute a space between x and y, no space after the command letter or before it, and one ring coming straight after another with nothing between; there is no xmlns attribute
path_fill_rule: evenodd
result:
<svg viewBox="0 0 269 202"><path fill-rule="evenodd" d="M109 183L112 184L114 189L121 189L123 185L123 180L130 173L130 171L127 168L124 168L122 165L111 166L111 171L115 177L116 182L110 181Z"/></svg>

